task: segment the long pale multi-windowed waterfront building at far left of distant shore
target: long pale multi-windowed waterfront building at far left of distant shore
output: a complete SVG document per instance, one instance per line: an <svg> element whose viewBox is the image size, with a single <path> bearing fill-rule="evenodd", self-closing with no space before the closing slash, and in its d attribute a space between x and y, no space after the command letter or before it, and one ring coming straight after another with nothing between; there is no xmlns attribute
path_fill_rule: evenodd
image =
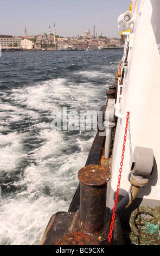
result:
<svg viewBox="0 0 160 256"><path fill-rule="evenodd" d="M12 35L0 35L0 45L3 48L21 48L22 38Z"/></svg>

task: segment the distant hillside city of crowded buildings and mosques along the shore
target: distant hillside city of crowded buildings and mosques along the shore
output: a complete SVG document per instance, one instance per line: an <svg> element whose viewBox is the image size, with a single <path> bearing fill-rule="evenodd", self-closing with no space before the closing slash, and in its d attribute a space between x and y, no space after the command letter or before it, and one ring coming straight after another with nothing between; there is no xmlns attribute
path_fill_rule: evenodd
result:
<svg viewBox="0 0 160 256"><path fill-rule="evenodd" d="M40 35L11 36L0 34L0 47L2 51L9 50L103 50L106 48L123 47L118 38L94 36L85 31L81 36L63 37L43 32ZM70 48L69 48L70 47Z"/></svg>

